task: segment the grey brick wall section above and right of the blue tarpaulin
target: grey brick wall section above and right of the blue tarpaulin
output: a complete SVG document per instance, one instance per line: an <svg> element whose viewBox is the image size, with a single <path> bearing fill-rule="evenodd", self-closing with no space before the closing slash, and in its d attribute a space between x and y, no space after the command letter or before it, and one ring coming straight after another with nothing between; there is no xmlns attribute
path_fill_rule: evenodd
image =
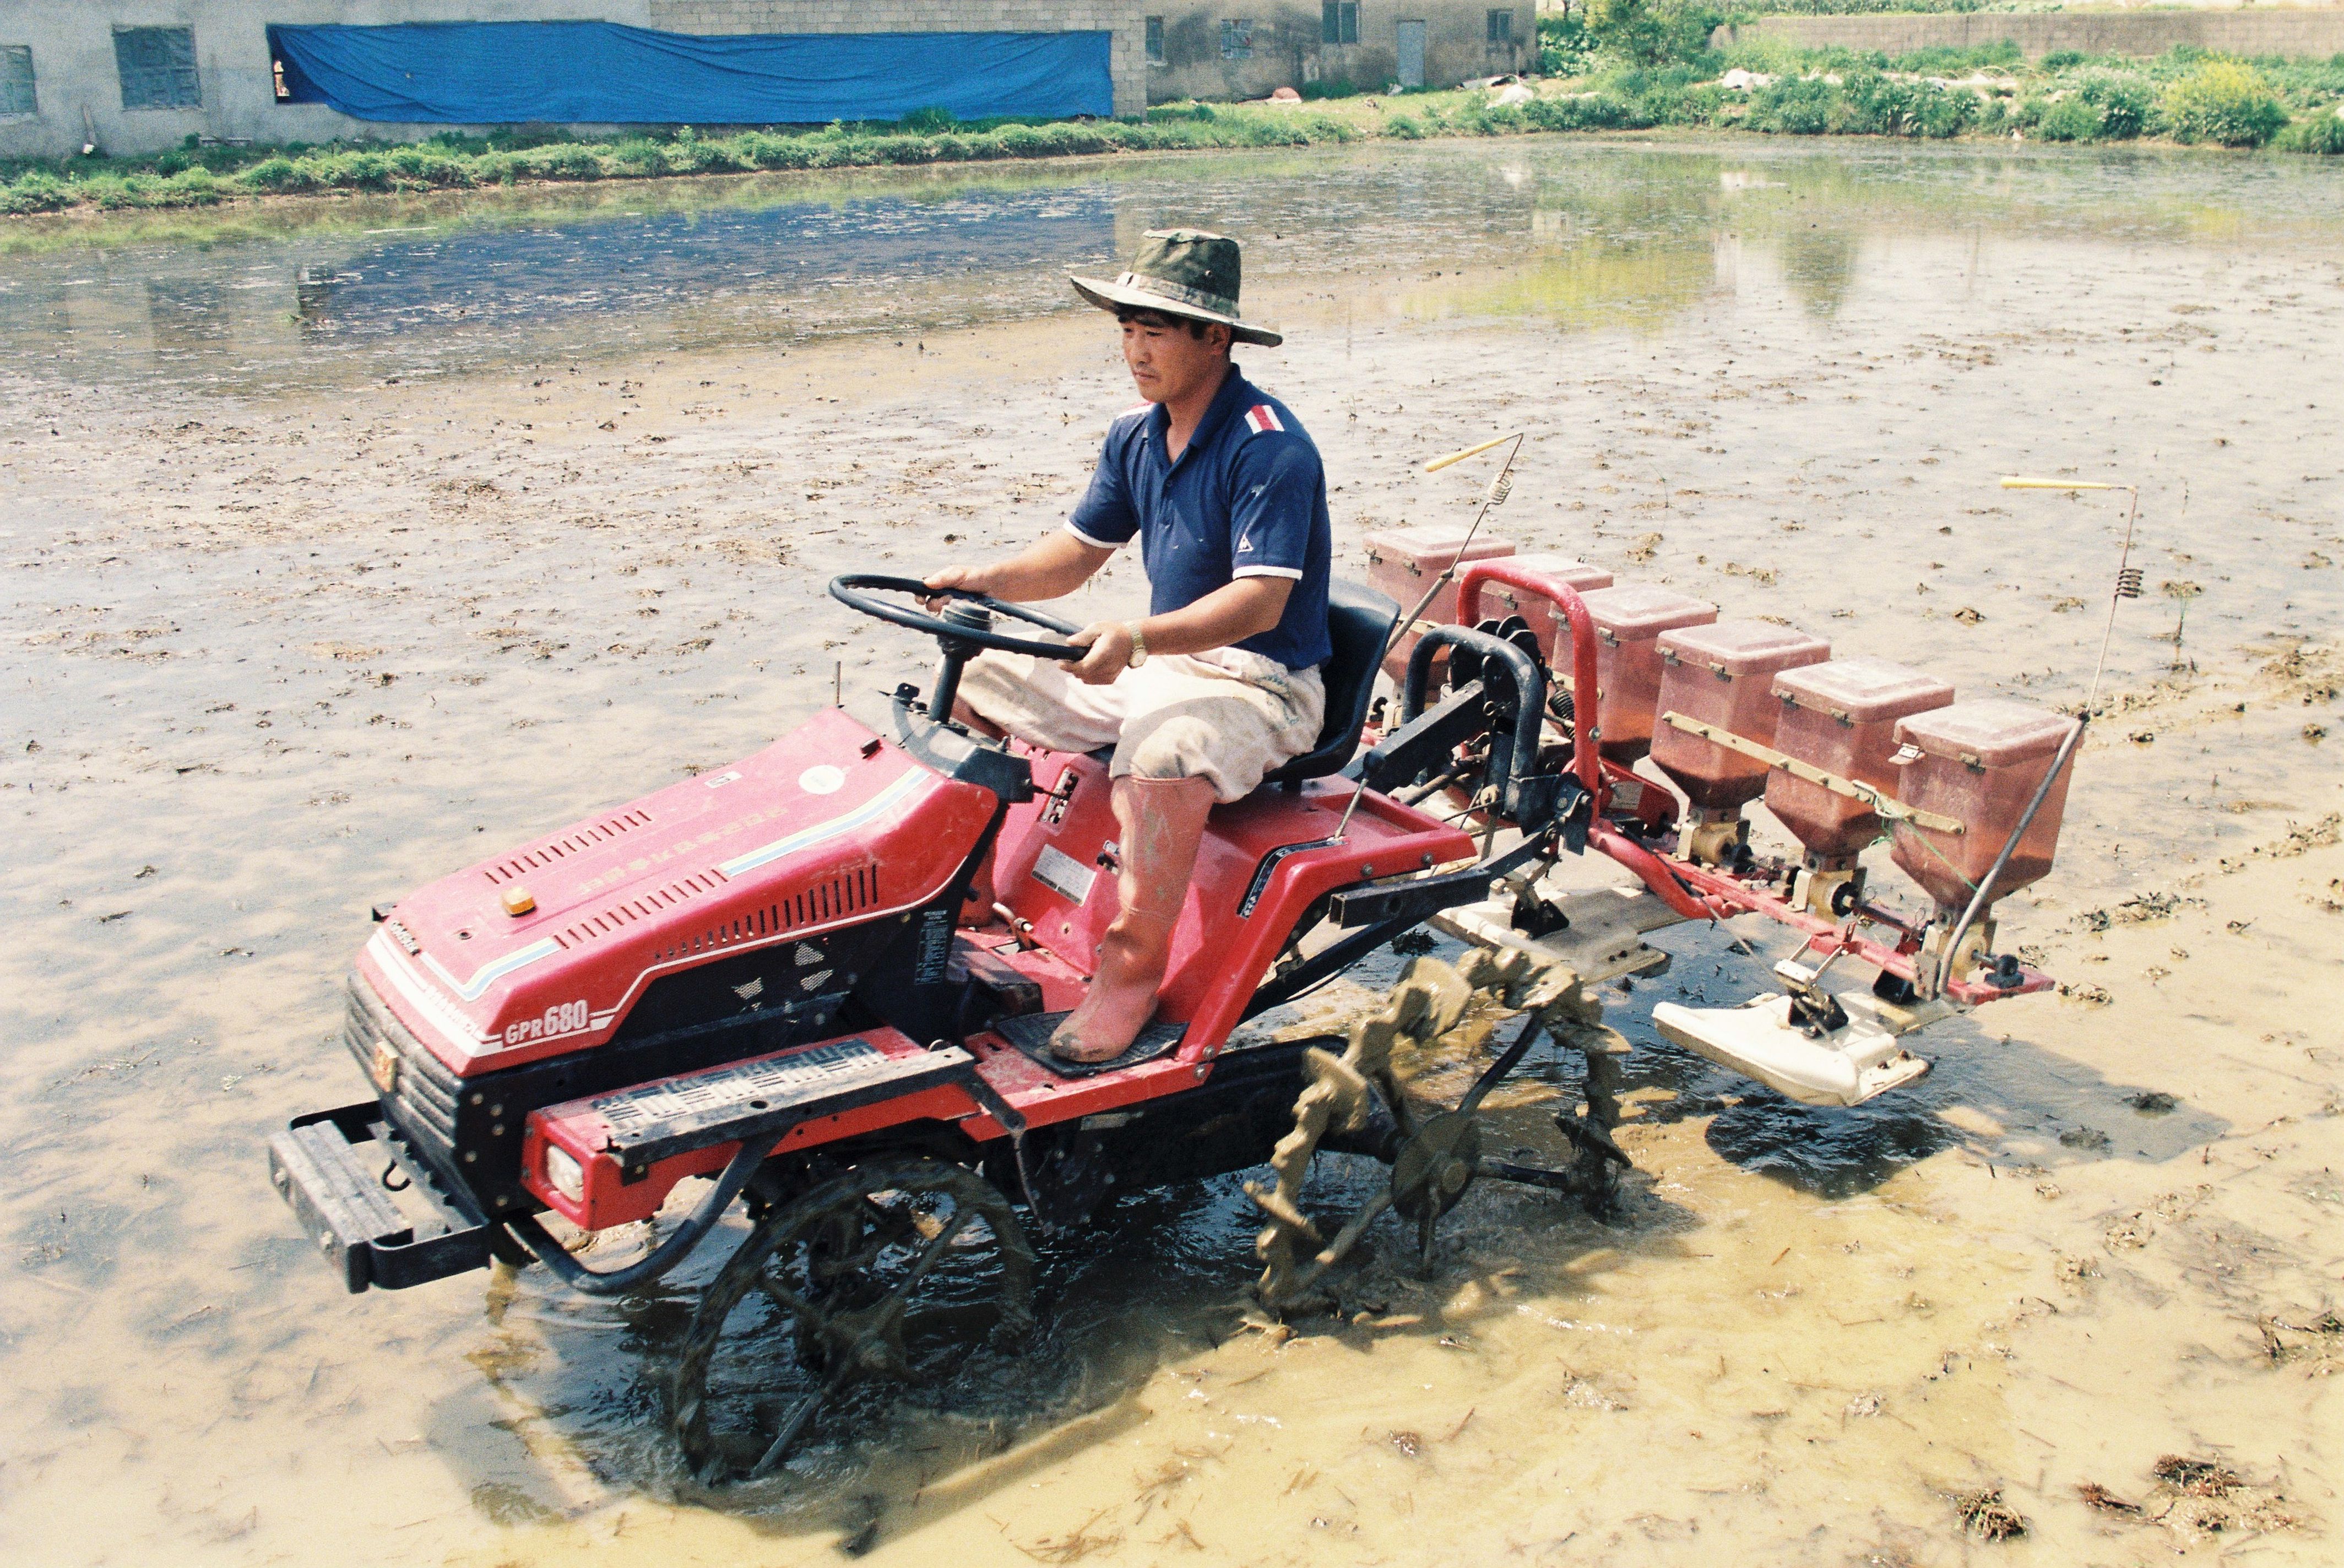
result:
<svg viewBox="0 0 2344 1568"><path fill-rule="evenodd" d="M1149 105L1139 0L649 0L668 33L1113 33L1116 113Z"/></svg>

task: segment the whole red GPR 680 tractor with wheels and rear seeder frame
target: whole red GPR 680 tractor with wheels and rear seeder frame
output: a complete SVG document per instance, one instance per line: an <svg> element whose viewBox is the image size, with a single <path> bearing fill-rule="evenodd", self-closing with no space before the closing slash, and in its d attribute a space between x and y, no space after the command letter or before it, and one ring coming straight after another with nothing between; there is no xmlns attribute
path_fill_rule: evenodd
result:
<svg viewBox="0 0 2344 1568"><path fill-rule="evenodd" d="M942 614L895 609L870 593L933 595L909 579L841 577L841 602L938 638L926 696L900 687L881 731L818 713L727 769L377 909L345 1029L375 1099L293 1118L270 1141L272 1181L352 1291L492 1256L544 1263L586 1294L642 1289L743 1200L750 1233L703 1291L670 1420L703 1472L755 1460L748 1472L764 1474L832 1383L802 1390L778 1425L755 1399L736 1402L734 1425L755 1427L757 1444L724 1458L729 1439L710 1434L710 1411L724 1404L713 1390L731 1385L710 1376L710 1357L755 1282L792 1320L809 1366L909 1378L921 1341L905 1331L905 1303L952 1296L931 1270L959 1277L989 1259L984 1291L1003 1331L1015 1329L1029 1322L1024 1223L1078 1226L1118 1184L1275 1165L1275 1188L1247 1188L1268 1216L1259 1289L1273 1308L1301 1301L1378 1212L1320 1233L1296 1207L1296 1160L1315 1148L1392 1165L1376 1202L1418 1226L1425 1259L1435 1221L1477 1172L1608 1212L1627 1165L1608 1134L1620 1069L1601 1031L1582 1027L1599 1008L1585 987L1664 968L1669 956L1641 942L1660 926L1758 914L1803 938L1798 956L1819 961L1777 963L1784 994L1730 1010L1660 1003L1653 1022L1810 1104L1859 1104L1910 1083L1927 1062L1903 1036L2051 984L1992 952L1985 912L2079 729L2016 825L2004 834L1990 823L2004 848L1969 907L1922 923L1866 898L1859 867L1758 855L1732 809L1685 813L1660 778L1608 757L1599 713L1617 708L1617 694L1592 701L1596 621L1570 581L1479 563L1460 581L1465 614L1486 584L1549 602L1552 647L1519 616L1416 623L1399 691L1385 698L1392 710L1374 722L1399 605L1334 584L1336 652L1315 750L1212 811L1156 1020L1120 1057L1069 1064L1048 1038L1081 1001L1118 914L1106 752L987 741L949 715L977 649L1078 656L1008 638L994 616L1074 628L982 598ZM1725 675L1720 666L1678 680ZM1622 731L1692 736L1735 766L1793 771L1882 818L1967 827L1657 698L1648 705L1662 710L1641 727L1613 717ZM1624 877L1578 891L1545 881L1589 848ZM987 855L992 898L970 907ZM1622 893L1622 879L1636 886ZM1467 968L1481 980L1418 959L1348 1043L1238 1034L1435 919L1479 949ZM1826 987L1842 961L1842 984ZM1538 991L1549 982L1561 989ZM1430 1043L1477 987L1514 996L1503 1005L1528 1022L1458 1109L1423 1116L1392 1078L1390 1031L1423 1029L1418 1043ZM1545 1001L1526 1001L1533 991ZM1566 994L1578 1001L1566 1005ZM1568 1170L1484 1158L1474 1132L1474 1106L1540 1029L1575 1041L1587 1064L1585 1106L1556 1116ZM1348 1106L1341 1118L1336 1102ZM713 1186L687 1219L663 1221L663 1240L635 1263L586 1266L539 1221L642 1221L687 1177Z"/></svg>

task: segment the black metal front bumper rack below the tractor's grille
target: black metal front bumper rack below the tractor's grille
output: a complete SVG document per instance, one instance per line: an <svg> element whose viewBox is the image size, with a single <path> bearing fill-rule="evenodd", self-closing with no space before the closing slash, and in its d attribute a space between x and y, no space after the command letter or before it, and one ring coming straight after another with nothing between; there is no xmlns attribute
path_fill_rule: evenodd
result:
<svg viewBox="0 0 2344 1568"><path fill-rule="evenodd" d="M384 1170L363 1163L361 1148ZM417 1235L391 1202L391 1170L434 1209L436 1233ZM270 1139L270 1184L352 1296L488 1268L488 1221L431 1177L373 1102L295 1116Z"/></svg>

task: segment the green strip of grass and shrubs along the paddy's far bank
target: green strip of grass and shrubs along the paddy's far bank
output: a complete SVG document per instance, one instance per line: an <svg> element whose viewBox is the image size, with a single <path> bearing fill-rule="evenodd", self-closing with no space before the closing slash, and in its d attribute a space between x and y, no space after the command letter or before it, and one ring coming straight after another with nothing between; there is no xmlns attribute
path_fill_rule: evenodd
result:
<svg viewBox="0 0 2344 1568"><path fill-rule="evenodd" d="M954 124L949 115L924 113L895 124L724 136L703 136L691 127L593 141L441 134L403 145L190 145L136 159L5 159L0 213L1653 127L2074 143L2166 138L2344 152L2337 108L2344 101L2344 56L2231 61L2175 49L2152 61L2053 54L2030 63L2009 45L1887 59L1779 45L1718 52L1688 42L1695 35L1697 28L1685 26L1622 42L1547 23L1540 40L1554 75L1517 103L1479 89L1355 94L1341 84L1313 84L1315 94L1329 96L1296 105L1170 103L1146 120Z"/></svg>

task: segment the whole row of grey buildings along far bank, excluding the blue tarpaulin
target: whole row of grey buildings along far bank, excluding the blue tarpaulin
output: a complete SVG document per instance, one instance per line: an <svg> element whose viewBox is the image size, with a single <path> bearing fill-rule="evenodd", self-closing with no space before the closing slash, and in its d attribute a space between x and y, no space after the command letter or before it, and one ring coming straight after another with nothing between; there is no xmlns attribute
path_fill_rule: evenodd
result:
<svg viewBox="0 0 2344 1568"><path fill-rule="evenodd" d="M0 157L481 131L281 101L267 28L579 19L703 35L1109 33L1118 115L1320 80L1444 87L1535 59L1533 0L0 0Z"/></svg>

